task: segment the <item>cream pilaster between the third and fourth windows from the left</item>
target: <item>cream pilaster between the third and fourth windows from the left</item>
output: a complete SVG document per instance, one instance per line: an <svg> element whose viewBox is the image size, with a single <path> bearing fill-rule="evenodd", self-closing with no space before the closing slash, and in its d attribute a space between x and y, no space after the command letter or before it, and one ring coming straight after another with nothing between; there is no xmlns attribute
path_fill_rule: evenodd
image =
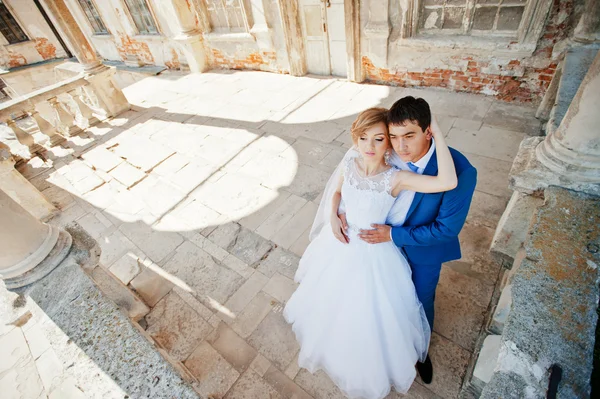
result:
<svg viewBox="0 0 600 399"><path fill-rule="evenodd" d="M171 0L179 32L174 37L185 55L191 72L204 72L208 65L202 32L196 27L193 10L185 0Z"/></svg>

